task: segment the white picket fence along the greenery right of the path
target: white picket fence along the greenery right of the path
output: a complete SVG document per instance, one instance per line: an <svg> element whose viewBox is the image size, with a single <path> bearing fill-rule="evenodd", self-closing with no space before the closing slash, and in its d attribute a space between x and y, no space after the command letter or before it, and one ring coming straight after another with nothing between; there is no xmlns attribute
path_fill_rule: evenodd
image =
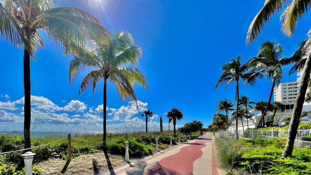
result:
<svg viewBox="0 0 311 175"><path fill-rule="evenodd" d="M311 129L299 129L297 130L295 148L305 148L307 146L311 147L311 142L301 140L302 137L307 137L311 134ZM231 138L231 135L239 135L239 139L266 139L272 140L273 138L278 138L287 141L288 130L219 130L215 132L215 138Z"/></svg>

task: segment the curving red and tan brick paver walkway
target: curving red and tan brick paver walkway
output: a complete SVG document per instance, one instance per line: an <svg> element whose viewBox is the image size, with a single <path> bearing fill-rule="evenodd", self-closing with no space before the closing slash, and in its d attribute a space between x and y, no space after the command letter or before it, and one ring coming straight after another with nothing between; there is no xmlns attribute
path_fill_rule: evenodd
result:
<svg viewBox="0 0 311 175"><path fill-rule="evenodd" d="M217 175L211 133L116 172L119 175Z"/></svg>

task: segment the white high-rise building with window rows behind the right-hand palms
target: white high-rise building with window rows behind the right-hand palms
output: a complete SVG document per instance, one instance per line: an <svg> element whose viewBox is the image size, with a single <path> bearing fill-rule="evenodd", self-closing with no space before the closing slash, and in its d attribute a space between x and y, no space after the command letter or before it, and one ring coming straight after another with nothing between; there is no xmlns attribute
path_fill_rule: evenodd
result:
<svg viewBox="0 0 311 175"><path fill-rule="evenodd" d="M285 109L293 109L299 82L280 83L274 88L274 102L281 102L285 105Z"/></svg>

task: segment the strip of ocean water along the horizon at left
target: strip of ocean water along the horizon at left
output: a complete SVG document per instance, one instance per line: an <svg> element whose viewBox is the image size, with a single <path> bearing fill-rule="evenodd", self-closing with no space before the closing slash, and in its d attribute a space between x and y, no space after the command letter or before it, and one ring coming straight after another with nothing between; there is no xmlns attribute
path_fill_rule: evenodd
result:
<svg viewBox="0 0 311 175"><path fill-rule="evenodd" d="M67 134L74 135L97 135L97 134L103 134L103 131L86 131L86 132L64 132L64 131L49 131L49 132L43 132L43 131L31 131L30 136L31 137L47 137L47 136L67 136ZM24 136L24 132L0 132L1 135L13 135L13 136Z"/></svg>

